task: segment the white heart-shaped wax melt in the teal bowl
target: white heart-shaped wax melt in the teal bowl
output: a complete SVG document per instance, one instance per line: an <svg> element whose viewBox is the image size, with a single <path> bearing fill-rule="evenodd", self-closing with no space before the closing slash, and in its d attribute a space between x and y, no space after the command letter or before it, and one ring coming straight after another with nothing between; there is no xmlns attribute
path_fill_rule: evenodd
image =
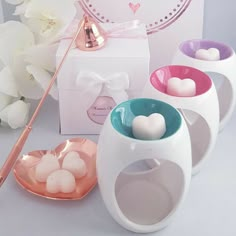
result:
<svg viewBox="0 0 236 236"><path fill-rule="evenodd" d="M166 133L165 118L158 113L153 113L149 117L137 116L132 123L133 135L141 140L160 139Z"/></svg>

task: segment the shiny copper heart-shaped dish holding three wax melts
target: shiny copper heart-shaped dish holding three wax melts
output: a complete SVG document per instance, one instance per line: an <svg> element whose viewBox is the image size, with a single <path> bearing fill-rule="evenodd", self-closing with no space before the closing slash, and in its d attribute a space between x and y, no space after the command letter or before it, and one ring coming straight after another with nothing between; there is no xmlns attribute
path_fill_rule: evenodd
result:
<svg viewBox="0 0 236 236"><path fill-rule="evenodd" d="M46 183L36 180L35 170L41 158L48 153L55 155L62 164L67 153L75 151L84 160L87 174L76 180L76 190L72 193L47 192ZM80 200L84 198L97 184L96 175L97 144L83 138L66 140L52 151L38 150L30 152L19 158L14 167L14 175L18 184L30 193L53 200Z"/></svg>

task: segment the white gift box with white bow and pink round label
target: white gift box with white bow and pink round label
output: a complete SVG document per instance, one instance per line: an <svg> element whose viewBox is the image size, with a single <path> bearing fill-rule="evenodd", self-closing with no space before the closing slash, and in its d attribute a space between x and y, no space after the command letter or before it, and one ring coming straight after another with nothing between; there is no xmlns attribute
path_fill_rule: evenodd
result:
<svg viewBox="0 0 236 236"><path fill-rule="evenodd" d="M106 31L114 26L102 24ZM69 43L61 41L57 64ZM114 106L141 95L149 78L149 63L144 24L132 37L109 37L100 50L71 50L58 75L61 134L99 134Z"/></svg>

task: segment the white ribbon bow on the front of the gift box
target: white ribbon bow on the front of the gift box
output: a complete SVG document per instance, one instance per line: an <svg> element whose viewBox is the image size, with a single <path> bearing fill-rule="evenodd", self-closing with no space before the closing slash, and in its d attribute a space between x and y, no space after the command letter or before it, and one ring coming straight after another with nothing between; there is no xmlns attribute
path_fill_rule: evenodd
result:
<svg viewBox="0 0 236 236"><path fill-rule="evenodd" d="M102 91L105 91L116 104L119 104L128 100L125 90L129 88L129 76L125 72L119 72L103 77L95 72L81 71L77 76L76 86L89 107Z"/></svg>

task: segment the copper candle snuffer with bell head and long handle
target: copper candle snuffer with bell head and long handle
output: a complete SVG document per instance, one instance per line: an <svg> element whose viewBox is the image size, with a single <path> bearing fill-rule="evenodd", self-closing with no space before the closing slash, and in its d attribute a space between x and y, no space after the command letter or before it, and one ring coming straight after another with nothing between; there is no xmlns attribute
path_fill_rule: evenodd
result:
<svg viewBox="0 0 236 236"><path fill-rule="evenodd" d="M76 43L76 46L79 47L80 49L91 51L103 47L105 45L106 41L105 39L106 39L105 34L103 34L103 31L100 28L100 26L91 17L84 15L83 19L78 25L78 29L74 34L61 62L58 65L57 70L52 76L52 79L46 91L44 92L33 116L31 117L31 120L29 121L28 125L26 125L25 129L23 130L22 134L20 135L19 139L17 140L10 154L8 155L6 162L0 169L0 187L3 185L12 167L14 166L18 156L20 155L23 146L25 145L25 142L27 141L28 136L32 130L33 123L37 118L38 113L41 110L49 91L51 90L53 84L55 83L56 78L64 64L64 61L66 60L70 52L70 49L73 47L74 43Z"/></svg>

